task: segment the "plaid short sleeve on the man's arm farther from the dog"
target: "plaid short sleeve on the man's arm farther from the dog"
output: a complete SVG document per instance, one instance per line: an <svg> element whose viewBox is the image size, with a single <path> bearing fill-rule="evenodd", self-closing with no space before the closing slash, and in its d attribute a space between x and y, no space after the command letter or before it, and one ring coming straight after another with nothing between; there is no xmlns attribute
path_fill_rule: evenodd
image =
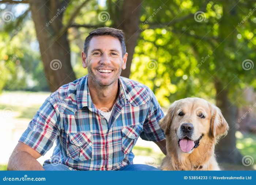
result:
<svg viewBox="0 0 256 185"><path fill-rule="evenodd" d="M30 121L28 128L19 141L27 144L44 155L52 146L60 133L60 114L57 104L48 97Z"/></svg>

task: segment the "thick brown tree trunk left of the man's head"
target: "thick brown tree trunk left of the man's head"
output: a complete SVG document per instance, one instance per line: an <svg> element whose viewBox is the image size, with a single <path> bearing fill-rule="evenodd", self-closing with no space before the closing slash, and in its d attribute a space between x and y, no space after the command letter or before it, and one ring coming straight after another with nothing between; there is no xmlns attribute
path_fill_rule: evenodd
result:
<svg viewBox="0 0 256 185"><path fill-rule="evenodd" d="M59 0L30 0L41 58L51 91L76 79L71 67L67 31L57 38L63 27L61 22L65 5Z"/></svg>

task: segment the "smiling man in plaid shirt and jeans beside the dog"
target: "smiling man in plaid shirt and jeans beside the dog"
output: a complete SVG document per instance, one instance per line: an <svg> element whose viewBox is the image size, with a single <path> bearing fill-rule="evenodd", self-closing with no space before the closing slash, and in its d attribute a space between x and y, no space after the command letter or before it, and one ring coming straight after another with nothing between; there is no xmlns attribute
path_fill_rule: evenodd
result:
<svg viewBox="0 0 256 185"><path fill-rule="evenodd" d="M166 150L158 124L163 112L154 94L120 77L128 56L124 39L123 31L108 27L89 34L82 52L88 75L46 99L20 137L8 170L157 170L132 164L139 136ZM36 159L54 140L52 159L42 167Z"/></svg>

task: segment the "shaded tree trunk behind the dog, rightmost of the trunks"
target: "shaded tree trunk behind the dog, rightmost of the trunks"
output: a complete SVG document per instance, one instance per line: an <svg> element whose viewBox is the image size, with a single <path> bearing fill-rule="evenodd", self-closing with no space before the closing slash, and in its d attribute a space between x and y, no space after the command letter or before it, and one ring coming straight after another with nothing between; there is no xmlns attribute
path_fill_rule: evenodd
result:
<svg viewBox="0 0 256 185"><path fill-rule="evenodd" d="M228 89L223 88L221 82L215 82L216 88L216 105L221 109L224 118L229 124L227 136L222 138L216 146L217 161L219 163L238 164L242 162L242 156L236 148L236 116L237 107L231 105L228 98Z"/></svg>

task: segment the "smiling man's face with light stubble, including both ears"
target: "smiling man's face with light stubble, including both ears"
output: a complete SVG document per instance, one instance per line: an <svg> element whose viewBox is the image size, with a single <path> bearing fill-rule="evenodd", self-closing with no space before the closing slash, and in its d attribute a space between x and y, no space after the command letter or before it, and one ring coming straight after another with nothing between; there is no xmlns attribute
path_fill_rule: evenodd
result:
<svg viewBox="0 0 256 185"><path fill-rule="evenodd" d="M89 79L106 87L117 81L126 68L127 53L122 56L121 43L109 35L91 38L89 49L82 52L83 67L88 68Z"/></svg>

